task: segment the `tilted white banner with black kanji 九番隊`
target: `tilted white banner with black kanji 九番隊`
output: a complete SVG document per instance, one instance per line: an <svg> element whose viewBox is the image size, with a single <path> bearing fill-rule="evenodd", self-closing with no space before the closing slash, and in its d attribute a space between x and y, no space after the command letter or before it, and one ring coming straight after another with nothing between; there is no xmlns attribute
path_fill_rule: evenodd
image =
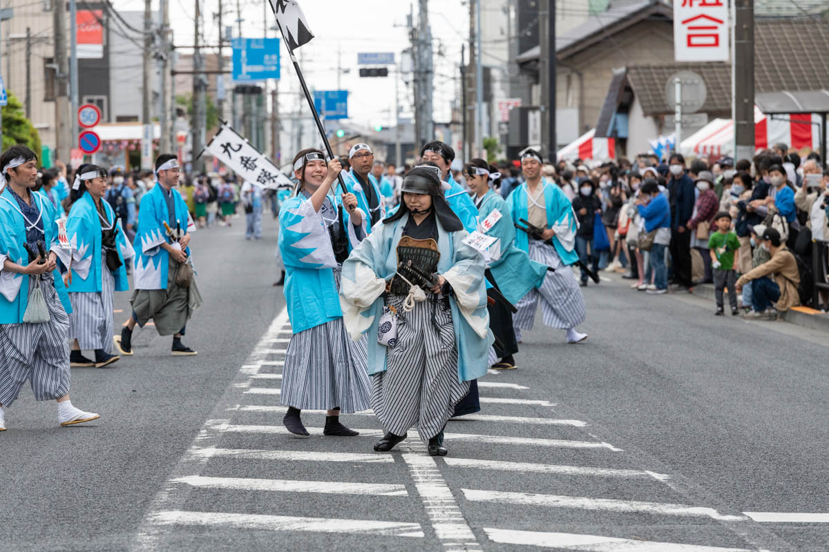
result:
<svg viewBox="0 0 829 552"><path fill-rule="evenodd" d="M259 150L250 145L247 138L233 130L230 123L216 132L216 136L205 146L216 159L233 170L240 179L256 182L265 188L293 187L293 183Z"/></svg>

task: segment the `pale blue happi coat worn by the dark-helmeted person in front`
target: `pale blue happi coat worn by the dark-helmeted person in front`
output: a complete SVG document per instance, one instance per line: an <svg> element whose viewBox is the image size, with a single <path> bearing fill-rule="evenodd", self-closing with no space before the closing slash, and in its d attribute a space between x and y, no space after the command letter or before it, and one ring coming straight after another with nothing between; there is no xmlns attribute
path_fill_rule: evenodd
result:
<svg viewBox="0 0 829 552"><path fill-rule="evenodd" d="M384 307L385 284L397 270L395 247L409 216L378 224L342 263L343 321L354 340L367 332L370 374L386 369L387 348L377 342L377 326ZM438 222L438 236L438 272L454 290L449 295L449 305L458 343L458 382L468 382L487 373L487 355L494 341L489 330L483 257L463 243L468 236L465 231L448 233Z"/></svg>

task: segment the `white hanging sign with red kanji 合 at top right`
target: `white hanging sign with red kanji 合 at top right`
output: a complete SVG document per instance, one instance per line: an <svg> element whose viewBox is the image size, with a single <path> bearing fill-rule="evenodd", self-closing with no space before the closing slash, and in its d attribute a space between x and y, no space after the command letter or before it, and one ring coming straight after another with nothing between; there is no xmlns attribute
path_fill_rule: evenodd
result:
<svg viewBox="0 0 829 552"><path fill-rule="evenodd" d="M728 0L674 0L676 61L729 60Z"/></svg>

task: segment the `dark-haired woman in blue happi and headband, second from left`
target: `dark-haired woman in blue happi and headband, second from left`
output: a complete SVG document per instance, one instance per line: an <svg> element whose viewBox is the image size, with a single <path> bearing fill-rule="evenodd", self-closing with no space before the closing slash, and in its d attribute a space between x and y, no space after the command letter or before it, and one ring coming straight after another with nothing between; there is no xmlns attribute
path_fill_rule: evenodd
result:
<svg viewBox="0 0 829 552"><path fill-rule="evenodd" d="M129 290L125 260L133 256L115 209L104 199L106 171L81 165L75 172L66 218L66 236L72 247L65 282L72 314L69 337L74 341L73 367L101 368L119 360L113 351L115 291ZM95 361L81 351L95 351Z"/></svg>

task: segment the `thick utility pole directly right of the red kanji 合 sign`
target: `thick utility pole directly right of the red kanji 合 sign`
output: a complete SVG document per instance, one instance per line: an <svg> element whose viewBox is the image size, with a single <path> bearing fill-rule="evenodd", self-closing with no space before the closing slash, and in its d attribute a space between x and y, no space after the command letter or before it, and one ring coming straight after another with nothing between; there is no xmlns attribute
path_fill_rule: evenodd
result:
<svg viewBox="0 0 829 552"><path fill-rule="evenodd" d="M734 0L733 6L734 159L751 159L754 156L754 0Z"/></svg>

